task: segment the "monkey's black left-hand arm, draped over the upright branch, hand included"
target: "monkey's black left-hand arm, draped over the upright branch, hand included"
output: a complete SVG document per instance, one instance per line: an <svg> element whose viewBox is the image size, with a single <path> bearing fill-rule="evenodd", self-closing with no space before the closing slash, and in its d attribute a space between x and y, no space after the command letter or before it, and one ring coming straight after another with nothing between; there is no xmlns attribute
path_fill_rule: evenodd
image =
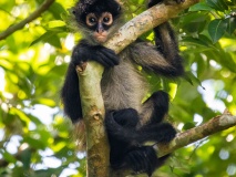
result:
<svg viewBox="0 0 236 177"><path fill-rule="evenodd" d="M102 45L90 45L85 40L82 40L74 48L61 91L64 112L72 122L76 122L82 118L79 79L75 66L89 60L96 61L106 67L114 66L119 63L117 55L115 55L112 50Z"/></svg>

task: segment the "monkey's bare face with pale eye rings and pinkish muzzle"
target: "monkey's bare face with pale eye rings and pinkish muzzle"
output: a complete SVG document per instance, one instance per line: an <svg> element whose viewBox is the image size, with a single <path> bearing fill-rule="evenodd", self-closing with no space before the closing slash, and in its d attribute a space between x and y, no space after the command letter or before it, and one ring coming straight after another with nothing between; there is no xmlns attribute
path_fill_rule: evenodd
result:
<svg viewBox="0 0 236 177"><path fill-rule="evenodd" d="M103 43L107 40L109 29L113 24L112 13L89 13L85 18L85 24L92 30L93 39L99 43Z"/></svg>

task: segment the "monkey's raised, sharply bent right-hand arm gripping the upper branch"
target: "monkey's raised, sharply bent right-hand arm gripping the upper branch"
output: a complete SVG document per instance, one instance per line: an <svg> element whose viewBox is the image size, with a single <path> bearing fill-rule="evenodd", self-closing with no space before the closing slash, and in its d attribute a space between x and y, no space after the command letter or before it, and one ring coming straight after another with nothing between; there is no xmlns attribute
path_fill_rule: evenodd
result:
<svg viewBox="0 0 236 177"><path fill-rule="evenodd" d="M148 0L148 8L163 0ZM174 0L181 3L184 0ZM168 22L153 29L155 48L145 43L134 43L131 49L132 59L144 69L165 76L179 76L184 73L182 58L178 54L178 44L174 31Z"/></svg>

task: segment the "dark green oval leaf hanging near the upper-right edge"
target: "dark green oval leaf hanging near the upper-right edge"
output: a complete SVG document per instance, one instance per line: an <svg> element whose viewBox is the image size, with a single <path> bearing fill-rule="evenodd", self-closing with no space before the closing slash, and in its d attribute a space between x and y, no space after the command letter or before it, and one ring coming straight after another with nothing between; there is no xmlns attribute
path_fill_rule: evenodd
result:
<svg viewBox="0 0 236 177"><path fill-rule="evenodd" d="M211 21L208 25L208 33L212 38L213 43L216 43L225 33L227 29L227 22L222 19Z"/></svg>

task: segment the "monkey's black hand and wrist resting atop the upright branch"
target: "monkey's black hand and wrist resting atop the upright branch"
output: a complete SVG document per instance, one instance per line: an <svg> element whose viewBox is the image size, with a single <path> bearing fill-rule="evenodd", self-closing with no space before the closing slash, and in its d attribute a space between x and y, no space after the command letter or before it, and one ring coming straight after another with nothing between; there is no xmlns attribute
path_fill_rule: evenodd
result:
<svg viewBox="0 0 236 177"><path fill-rule="evenodd" d="M114 51L102 45L90 45L84 41L80 42L73 50L72 63L80 65L89 60L96 61L105 67L119 64L119 56Z"/></svg>

